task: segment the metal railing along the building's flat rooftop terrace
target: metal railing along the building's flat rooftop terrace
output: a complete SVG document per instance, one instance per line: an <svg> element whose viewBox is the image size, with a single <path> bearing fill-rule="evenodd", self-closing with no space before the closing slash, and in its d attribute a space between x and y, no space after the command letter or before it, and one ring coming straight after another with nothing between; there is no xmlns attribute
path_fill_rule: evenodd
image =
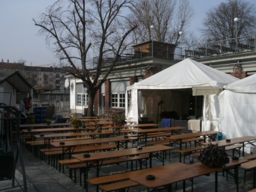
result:
<svg viewBox="0 0 256 192"><path fill-rule="evenodd" d="M168 50L154 50L153 53L135 51L134 48L124 50L118 57L118 65L130 62L140 62L152 58L183 60L186 58L202 59L206 57L220 57L222 55L241 54L244 52L256 51L256 35L247 35L244 37L230 38L227 40L213 41L204 44L195 44L189 47L176 47L173 54ZM109 66L115 59L114 54L106 54L103 57L103 66ZM98 57L93 58L93 68L98 62Z"/></svg>

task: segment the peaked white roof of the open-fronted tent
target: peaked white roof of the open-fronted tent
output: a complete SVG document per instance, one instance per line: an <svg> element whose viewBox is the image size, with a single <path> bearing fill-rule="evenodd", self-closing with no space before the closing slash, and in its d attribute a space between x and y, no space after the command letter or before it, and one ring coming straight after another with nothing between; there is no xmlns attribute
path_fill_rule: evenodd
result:
<svg viewBox="0 0 256 192"><path fill-rule="evenodd" d="M192 87L219 87L239 80L229 74L191 59L182 60L169 68L128 87L137 89L180 89Z"/></svg>

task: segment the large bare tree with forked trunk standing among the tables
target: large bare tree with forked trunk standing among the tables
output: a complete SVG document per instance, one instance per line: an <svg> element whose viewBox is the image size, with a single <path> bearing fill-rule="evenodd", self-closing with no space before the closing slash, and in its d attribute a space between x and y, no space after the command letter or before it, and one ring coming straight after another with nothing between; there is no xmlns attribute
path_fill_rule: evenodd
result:
<svg viewBox="0 0 256 192"><path fill-rule="evenodd" d="M127 36L136 28L135 23L129 29L125 26L124 11L130 3L129 0L57 0L39 21L33 19L46 40L55 45L61 66L81 79L87 88L88 116L93 115L96 92L126 48ZM94 69L89 62L92 45L98 49ZM104 65L105 54L112 54L108 65Z"/></svg>

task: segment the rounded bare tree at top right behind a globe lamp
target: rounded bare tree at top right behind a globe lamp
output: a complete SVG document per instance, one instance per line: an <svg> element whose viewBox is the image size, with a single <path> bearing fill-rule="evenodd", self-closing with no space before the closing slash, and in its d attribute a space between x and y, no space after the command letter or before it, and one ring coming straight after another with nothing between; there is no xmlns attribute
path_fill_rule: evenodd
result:
<svg viewBox="0 0 256 192"><path fill-rule="evenodd" d="M238 18L235 23L234 19ZM210 41L225 40L255 32L255 5L243 0L228 0L208 10L202 33Z"/></svg>

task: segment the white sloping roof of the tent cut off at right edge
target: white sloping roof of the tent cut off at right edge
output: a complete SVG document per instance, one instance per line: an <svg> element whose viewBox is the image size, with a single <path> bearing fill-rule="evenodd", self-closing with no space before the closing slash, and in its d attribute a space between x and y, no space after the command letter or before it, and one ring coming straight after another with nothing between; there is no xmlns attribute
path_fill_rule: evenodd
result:
<svg viewBox="0 0 256 192"><path fill-rule="evenodd" d="M237 93L256 93L256 74L225 85L224 88Z"/></svg>

